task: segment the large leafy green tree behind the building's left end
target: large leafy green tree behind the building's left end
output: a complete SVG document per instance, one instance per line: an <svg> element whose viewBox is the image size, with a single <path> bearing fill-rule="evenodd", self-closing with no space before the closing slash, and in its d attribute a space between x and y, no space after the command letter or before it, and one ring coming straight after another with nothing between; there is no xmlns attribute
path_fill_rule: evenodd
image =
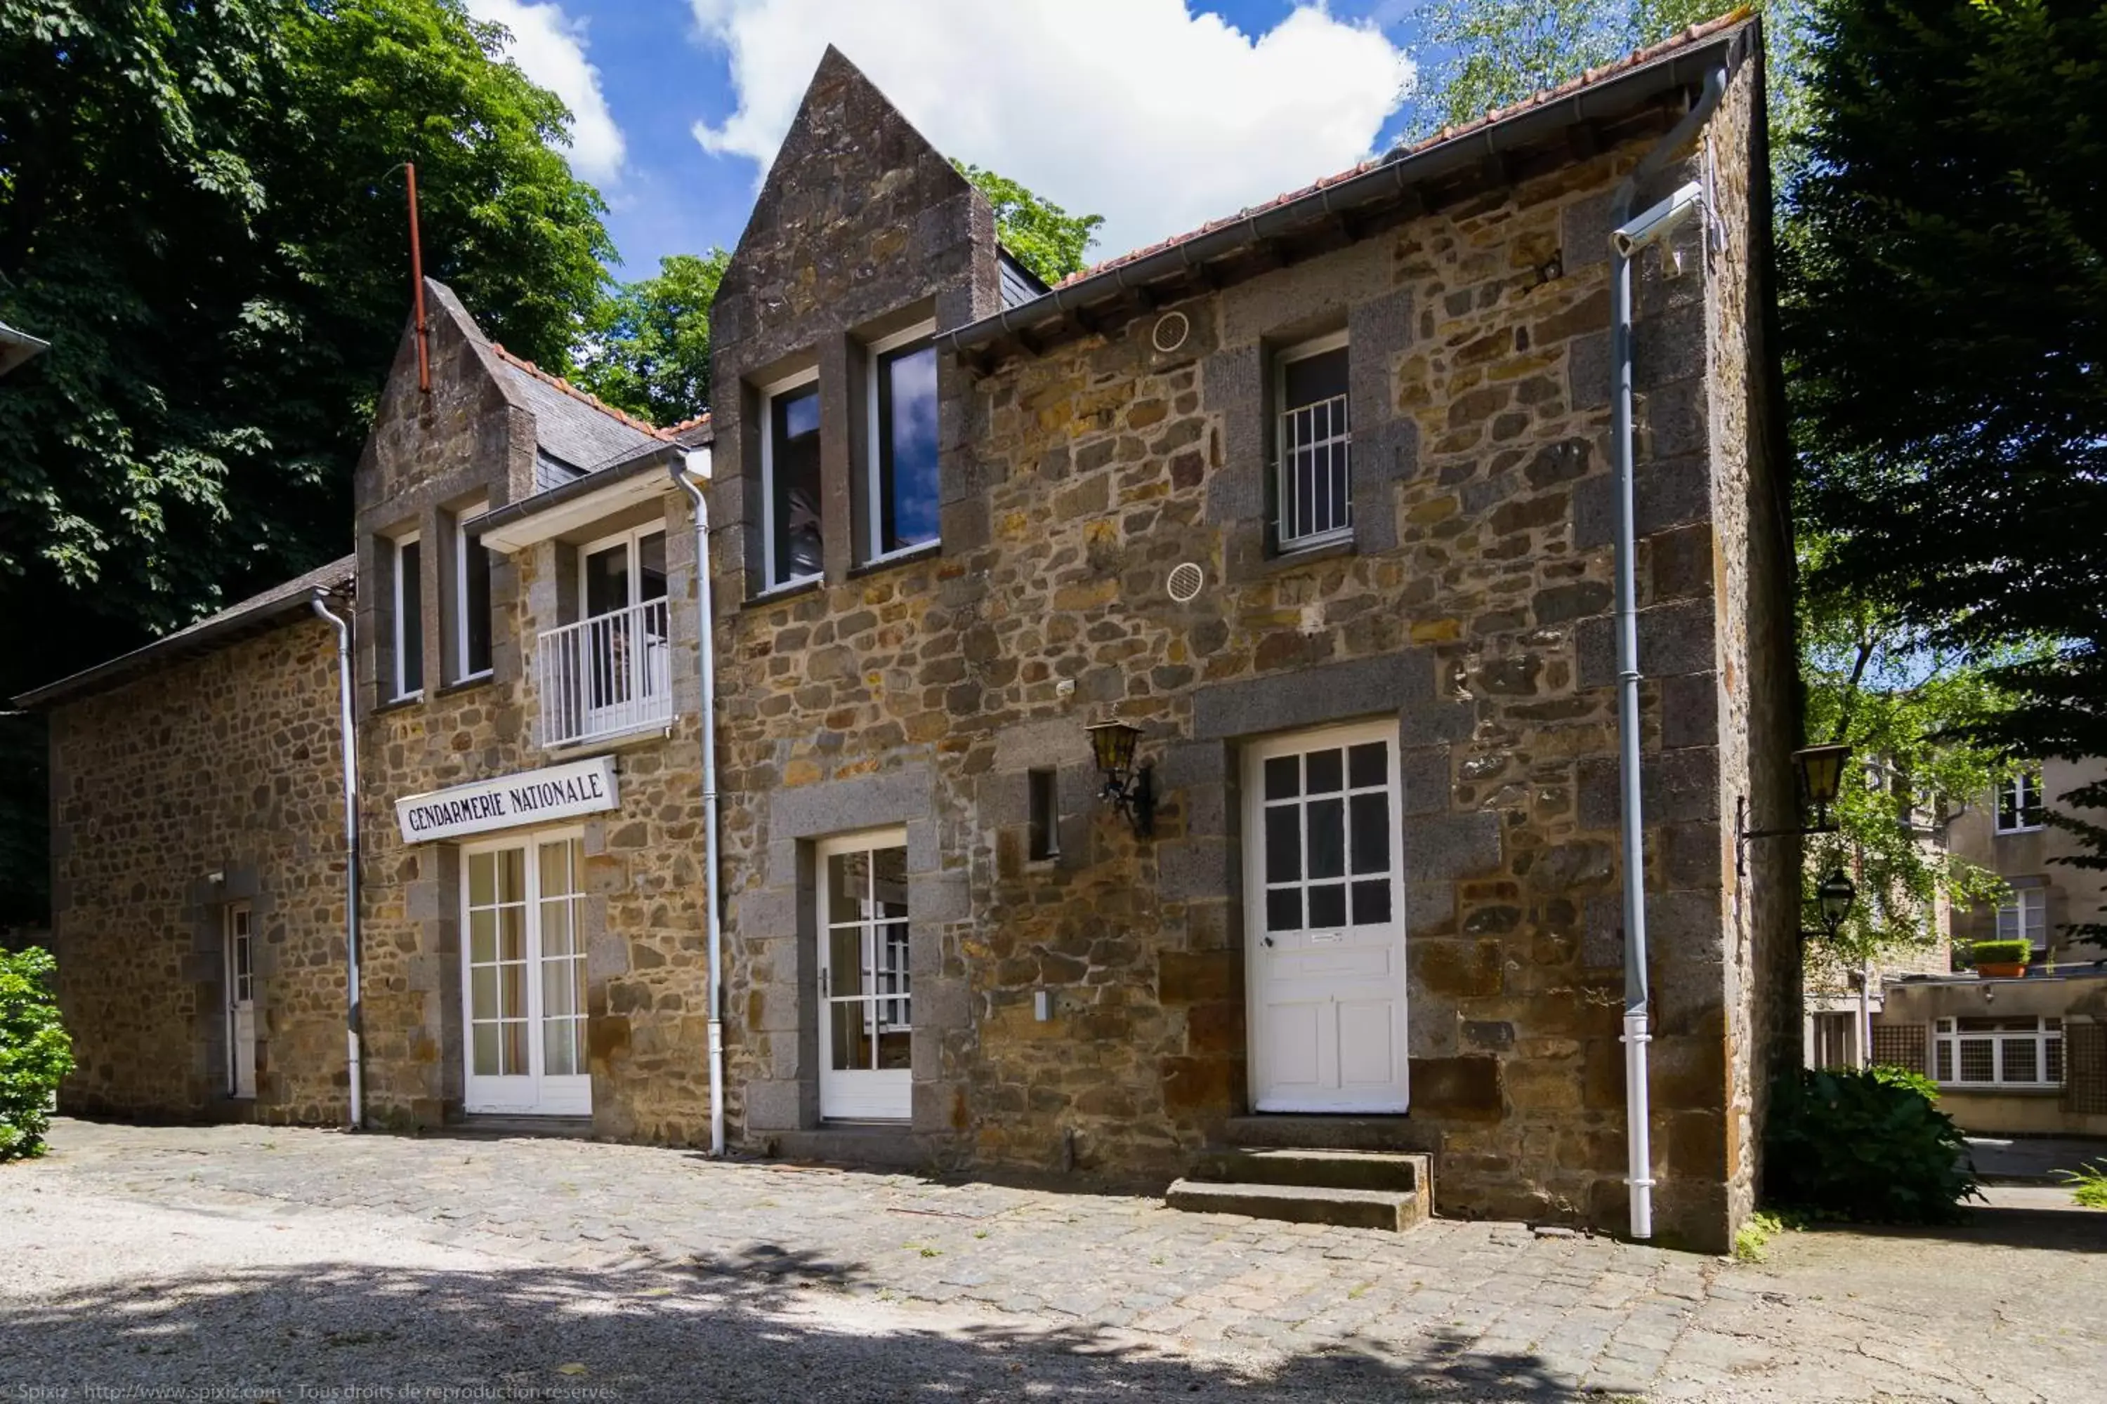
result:
<svg viewBox="0 0 2107 1404"><path fill-rule="evenodd" d="M0 4L0 697L350 547L426 267L563 366L611 253L569 114L459 0ZM34 726L0 733L0 922L36 920ZM27 838L25 838L27 836Z"/></svg>

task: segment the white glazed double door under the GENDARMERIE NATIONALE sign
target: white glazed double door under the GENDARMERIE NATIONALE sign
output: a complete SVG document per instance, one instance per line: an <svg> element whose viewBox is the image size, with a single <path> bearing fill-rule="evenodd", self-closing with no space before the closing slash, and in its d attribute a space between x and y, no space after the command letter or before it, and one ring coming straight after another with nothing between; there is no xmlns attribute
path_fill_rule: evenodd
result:
<svg viewBox="0 0 2107 1404"><path fill-rule="evenodd" d="M590 1116L584 846L483 844L461 867L468 1109Z"/></svg>

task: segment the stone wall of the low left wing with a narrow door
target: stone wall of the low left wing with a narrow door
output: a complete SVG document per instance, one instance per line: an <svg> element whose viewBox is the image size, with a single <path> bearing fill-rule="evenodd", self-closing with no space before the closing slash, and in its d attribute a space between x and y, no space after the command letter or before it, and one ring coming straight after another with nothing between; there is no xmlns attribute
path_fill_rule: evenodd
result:
<svg viewBox="0 0 2107 1404"><path fill-rule="evenodd" d="M63 1111L343 1118L335 638L284 623L53 709L53 945L78 1059ZM228 1097L236 901L255 932L253 1103Z"/></svg>

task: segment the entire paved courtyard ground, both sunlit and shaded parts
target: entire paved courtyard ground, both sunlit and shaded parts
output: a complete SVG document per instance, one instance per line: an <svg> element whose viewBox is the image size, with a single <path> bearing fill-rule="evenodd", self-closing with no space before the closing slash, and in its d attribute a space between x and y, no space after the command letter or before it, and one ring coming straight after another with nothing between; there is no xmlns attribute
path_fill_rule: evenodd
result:
<svg viewBox="0 0 2107 1404"><path fill-rule="evenodd" d="M1757 1267L573 1141L53 1145L0 1168L0 1400L2107 1400L2107 1215L2048 1189Z"/></svg>

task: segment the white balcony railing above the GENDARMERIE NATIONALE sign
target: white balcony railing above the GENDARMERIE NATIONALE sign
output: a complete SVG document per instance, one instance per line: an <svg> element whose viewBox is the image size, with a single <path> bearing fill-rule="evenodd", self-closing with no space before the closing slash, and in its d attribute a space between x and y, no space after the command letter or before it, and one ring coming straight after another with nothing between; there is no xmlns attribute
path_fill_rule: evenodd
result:
<svg viewBox="0 0 2107 1404"><path fill-rule="evenodd" d="M579 619L541 636L541 745L577 745L672 718L666 600Z"/></svg>

